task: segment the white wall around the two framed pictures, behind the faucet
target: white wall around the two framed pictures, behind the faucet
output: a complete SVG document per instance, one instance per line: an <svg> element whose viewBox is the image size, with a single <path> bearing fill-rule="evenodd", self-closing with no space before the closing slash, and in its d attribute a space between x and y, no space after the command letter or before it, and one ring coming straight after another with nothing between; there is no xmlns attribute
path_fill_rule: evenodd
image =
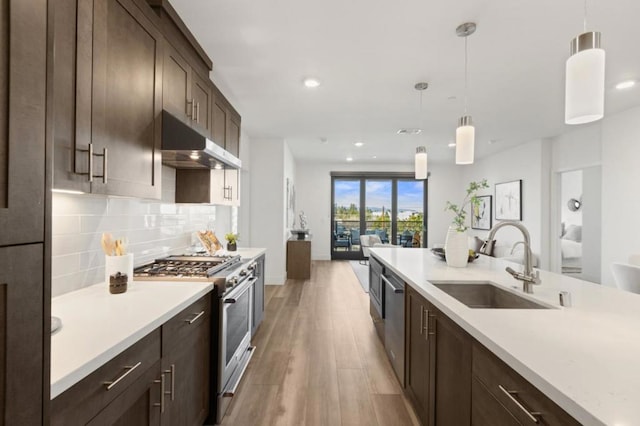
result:
<svg viewBox="0 0 640 426"><path fill-rule="evenodd" d="M459 204L465 195L469 182L487 179L489 188L478 192L478 195L493 196L493 224L495 220L495 184L522 180L522 224L527 227L531 235L531 250L539 259L539 266L545 268L548 264L548 252L543 250L544 218L542 205L547 191L546 175L543 175L545 159L545 141L535 140L489 157L477 159L471 166L463 167L461 186L456 191L456 197L451 201ZM468 216L469 218L469 216ZM545 230L546 232L546 230ZM488 231L469 229L469 235L486 239ZM496 244L501 250L510 250L511 246L522 241L522 234L515 228L503 228L496 234Z"/></svg>

